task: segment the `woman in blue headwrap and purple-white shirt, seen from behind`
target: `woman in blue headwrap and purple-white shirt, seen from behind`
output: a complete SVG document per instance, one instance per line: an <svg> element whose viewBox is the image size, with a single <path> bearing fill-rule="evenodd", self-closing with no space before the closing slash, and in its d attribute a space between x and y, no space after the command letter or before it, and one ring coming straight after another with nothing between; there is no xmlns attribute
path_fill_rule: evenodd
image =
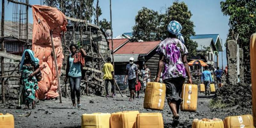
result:
<svg viewBox="0 0 256 128"><path fill-rule="evenodd" d="M174 126L179 124L179 109L182 101L180 94L186 75L188 76L188 84L192 84L187 61L188 50L184 45L184 38L180 33L181 29L182 26L178 21L171 21L167 27L168 38L162 41L157 49L160 60L155 82L159 82L164 68L163 81L166 84L166 99L172 110L172 124Z"/></svg>

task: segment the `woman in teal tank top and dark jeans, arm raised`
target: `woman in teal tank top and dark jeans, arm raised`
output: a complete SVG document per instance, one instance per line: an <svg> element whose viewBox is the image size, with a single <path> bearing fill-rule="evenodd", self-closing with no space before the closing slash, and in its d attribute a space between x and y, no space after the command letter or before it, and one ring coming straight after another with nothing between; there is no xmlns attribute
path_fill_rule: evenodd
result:
<svg viewBox="0 0 256 128"><path fill-rule="evenodd" d="M71 100L73 103L72 108L76 108L76 98L77 98L77 107L81 108L81 101L80 101L80 83L81 83L81 64L74 63L74 58L76 56L77 47L75 44L71 44L69 46L69 50L71 51L71 54L68 56L67 61L67 68L66 68L66 78L65 83L69 80L69 86L70 86L70 95ZM86 56L86 52L84 49L80 49L79 52L81 52L82 57Z"/></svg>

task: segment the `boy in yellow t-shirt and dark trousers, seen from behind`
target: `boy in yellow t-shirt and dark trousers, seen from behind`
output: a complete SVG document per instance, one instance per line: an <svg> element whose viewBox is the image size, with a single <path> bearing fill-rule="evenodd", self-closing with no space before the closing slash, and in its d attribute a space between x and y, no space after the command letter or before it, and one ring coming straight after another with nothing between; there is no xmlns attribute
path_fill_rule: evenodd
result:
<svg viewBox="0 0 256 128"><path fill-rule="evenodd" d="M113 68L113 65L111 64L111 58L110 57L108 57L107 61L108 62L103 65L103 72L104 72L103 79L106 82L106 86L105 86L106 93L107 93L106 97L109 97L108 82L110 82L111 85L112 85L111 86L112 97L115 97L116 96L116 93L115 93L116 86L114 84L114 80L115 80L114 68Z"/></svg>

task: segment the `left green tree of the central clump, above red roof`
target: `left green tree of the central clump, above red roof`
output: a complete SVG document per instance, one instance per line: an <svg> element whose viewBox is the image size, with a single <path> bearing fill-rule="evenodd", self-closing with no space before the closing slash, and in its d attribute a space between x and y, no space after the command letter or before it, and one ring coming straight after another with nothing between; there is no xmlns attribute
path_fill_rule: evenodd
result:
<svg viewBox="0 0 256 128"><path fill-rule="evenodd" d="M142 7L135 16L135 25L133 26L133 38L143 41L159 40L160 16L158 12Z"/></svg>

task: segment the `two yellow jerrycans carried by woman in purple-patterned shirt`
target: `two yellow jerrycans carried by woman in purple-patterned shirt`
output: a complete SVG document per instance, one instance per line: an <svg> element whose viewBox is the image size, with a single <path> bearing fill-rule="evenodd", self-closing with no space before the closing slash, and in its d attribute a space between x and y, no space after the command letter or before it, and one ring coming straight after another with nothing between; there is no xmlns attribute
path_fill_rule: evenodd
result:
<svg viewBox="0 0 256 128"><path fill-rule="evenodd" d="M163 110L166 86L163 83L148 82L145 90L143 107L146 109ZM197 85L183 84L181 92L181 111L196 111Z"/></svg>

